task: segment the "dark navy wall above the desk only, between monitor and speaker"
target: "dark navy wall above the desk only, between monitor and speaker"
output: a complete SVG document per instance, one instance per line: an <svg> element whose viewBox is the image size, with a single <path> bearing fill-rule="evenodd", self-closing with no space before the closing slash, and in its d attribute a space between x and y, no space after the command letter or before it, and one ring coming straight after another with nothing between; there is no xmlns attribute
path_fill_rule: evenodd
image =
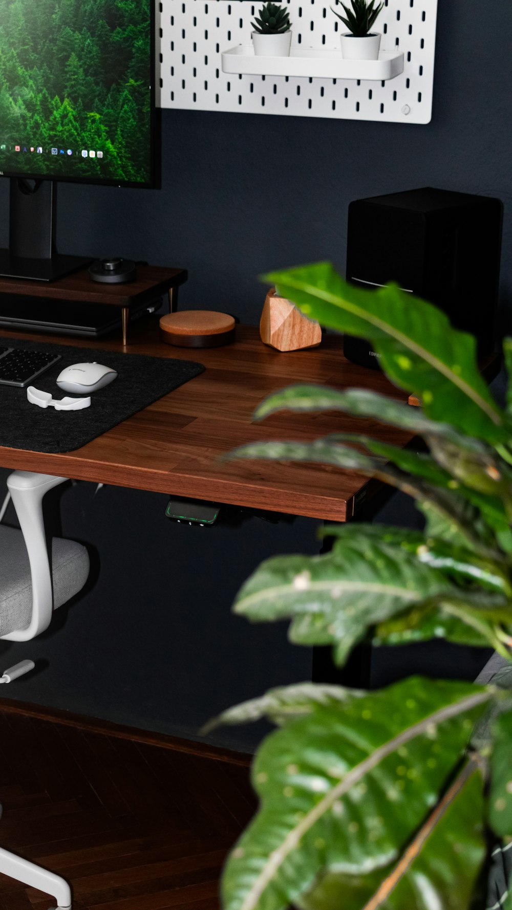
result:
<svg viewBox="0 0 512 910"><path fill-rule="evenodd" d="M189 268L182 306L254 322L261 271L320 258L344 269L352 199L434 186L505 203L506 296L512 5L497 0L493 15L481 0L438 7L428 126L164 110L161 189L59 187L62 251Z"/></svg>

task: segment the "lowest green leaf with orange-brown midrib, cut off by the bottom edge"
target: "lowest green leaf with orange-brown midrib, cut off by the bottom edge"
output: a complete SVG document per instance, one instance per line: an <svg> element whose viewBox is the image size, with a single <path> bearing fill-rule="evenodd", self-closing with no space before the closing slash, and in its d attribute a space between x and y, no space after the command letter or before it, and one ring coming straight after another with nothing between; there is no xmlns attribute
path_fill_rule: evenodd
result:
<svg viewBox="0 0 512 910"><path fill-rule="evenodd" d="M296 903L303 910L467 910L486 853L483 781L466 765L397 864L370 875L327 869Z"/></svg>

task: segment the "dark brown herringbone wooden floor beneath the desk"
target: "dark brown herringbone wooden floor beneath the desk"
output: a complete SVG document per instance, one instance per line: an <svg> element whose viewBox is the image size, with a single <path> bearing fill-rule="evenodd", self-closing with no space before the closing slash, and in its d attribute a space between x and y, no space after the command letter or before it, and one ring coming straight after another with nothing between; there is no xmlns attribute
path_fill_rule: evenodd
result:
<svg viewBox="0 0 512 910"><path fill-rule="evenodd" d="M0 844L64 875L74 910L217 910L223 859L254 811L248 777L243 764L0 710ZM51 904L0 875L0 910Z"/></svg>

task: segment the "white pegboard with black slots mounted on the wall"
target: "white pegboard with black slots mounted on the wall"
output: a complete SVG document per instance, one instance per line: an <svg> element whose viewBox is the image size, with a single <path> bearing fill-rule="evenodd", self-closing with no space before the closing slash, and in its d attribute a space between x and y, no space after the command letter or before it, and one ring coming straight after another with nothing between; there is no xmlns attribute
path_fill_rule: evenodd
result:
<svg viewBox="0 0 512 910"><path fill-rule="evenodd" d="M292 45L339 48L344 26L327 0L287 3ZM222 51L251 43L251 21L262 2L161 0L157 3L157 103L210 111L429 123L437 0L384 3L375 29L383 32L382 50L403 51L404 72L374 82L223 73Z"/></svg>

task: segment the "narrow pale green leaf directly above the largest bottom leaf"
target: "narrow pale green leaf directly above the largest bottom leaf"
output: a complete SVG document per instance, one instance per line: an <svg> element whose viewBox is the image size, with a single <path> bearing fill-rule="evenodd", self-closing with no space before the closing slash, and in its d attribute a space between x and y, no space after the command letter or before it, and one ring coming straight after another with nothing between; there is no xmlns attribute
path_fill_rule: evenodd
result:
<svg viewBox="0 0 512 910"><path fill-rule="evenodd" d="M350 704L355 698L362 698L364 692L345 689L343 686L318 682L296 682L293 685L270 689L260 698L235 705L223 711L219 717L203 727L201 733L210 733L220 724L252 723L266 717L271 723L282 727L296 721L298 717L311 714L323 706Z"/></svg>

